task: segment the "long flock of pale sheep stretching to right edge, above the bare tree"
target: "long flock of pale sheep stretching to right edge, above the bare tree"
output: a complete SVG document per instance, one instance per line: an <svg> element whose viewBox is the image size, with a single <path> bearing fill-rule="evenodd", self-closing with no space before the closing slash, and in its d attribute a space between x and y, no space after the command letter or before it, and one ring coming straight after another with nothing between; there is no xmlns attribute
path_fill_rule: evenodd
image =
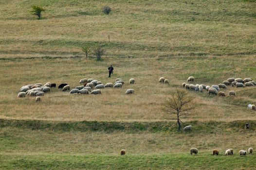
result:
<svg viewBox="0 0 256 170"><path fill-rule="evenodd" d="M160 78L161 79L161 78ZM159 80L160 81L160 80ZM187 83L188 82L194 82L195 78L193 76L188 77L187 79ZM199 91L199 92L203 92L203 89L205 89L208 94L213 94L213 95L219 95L219 96L226 96L225 92L220 91L220 88L226 89L227 85L232 85L238 87L245 87L245 86L254 86L256 85L256 83L254 81L252 81L251 78L245 78L245 79L241 79L241 78L228 78L227 80L223 81L221 84L219 85L193 85L193 84L187 84L187 83L183 83L183 88L185 89L190 89L190 90L195 90L195 91ZM229 91L229 96L236 96L236 92L235 91Z"/></svg>

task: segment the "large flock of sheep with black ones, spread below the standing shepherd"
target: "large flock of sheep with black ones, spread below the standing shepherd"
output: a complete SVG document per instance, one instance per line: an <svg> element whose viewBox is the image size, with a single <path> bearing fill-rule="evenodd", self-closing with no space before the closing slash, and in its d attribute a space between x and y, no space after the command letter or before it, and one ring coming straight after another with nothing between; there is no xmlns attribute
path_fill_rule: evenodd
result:
<svg viewBox="0 0 256 170"><path fill-rule="evenodd" d="M130 84L134 84L135 80L134 79L130 79L129 80ZM69 91L70 90L70 94L75 94L75 93L79 93L79 94L101 94L101 90L103 88L121 88L125 82L123 81L123 79L116 79L116 82L114 84L112 83L107 83L106 85L103 85L100 81L98 80L94 80L94 79L81 79L79 81L79 86L76 86L75 88L73 88L72 90L70 90L70 85L63 83L60 84L58 86L58 88L62 88L62 91ZM83 85L81 85L83 84ZM40 96L44 96L44 93L50 92L51 91L51 87L56 88L56 84L55 83L46 83L45 85L42 85L41 83L37 83L35 85L25 85L22 86L19 89L19 93L18 93L18 98L22 98L22 97L26 97L26 95L28 96L36 96L36 102L40 102L41 98ZM93 90L93 88L95 88ZM126 94L133 94L135 92L134 89L130 88L127 89Z"/></svg>

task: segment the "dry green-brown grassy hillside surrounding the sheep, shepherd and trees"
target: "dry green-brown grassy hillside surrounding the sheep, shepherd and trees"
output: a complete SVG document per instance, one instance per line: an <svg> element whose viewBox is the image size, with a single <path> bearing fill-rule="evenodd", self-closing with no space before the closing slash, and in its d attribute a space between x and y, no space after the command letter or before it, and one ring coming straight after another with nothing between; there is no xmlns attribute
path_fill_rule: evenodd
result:
<svg viewBox="0 0 256 170"><path fill-rule="evenodd" d="M41 20L32 5L47 9ZM188 76L205 85L256 81L255 9L255 0L1 0L0 169L254 170L255 153L238 151L256 150L256 112L247 110L256 104L255 86L228 86L226 97L189 91L197 106L181 118L193 126L188 133L178 133L161 108ZM86 58L84 45L102 46L102 61ZM162 76L169 85L158 82ZM125 85L101 95L53 88L39 103L17 98L23 85L73 88L82 78ZM126 95L128 88L135 94ZM234 155L224 156L229 148Z"/></svg>

